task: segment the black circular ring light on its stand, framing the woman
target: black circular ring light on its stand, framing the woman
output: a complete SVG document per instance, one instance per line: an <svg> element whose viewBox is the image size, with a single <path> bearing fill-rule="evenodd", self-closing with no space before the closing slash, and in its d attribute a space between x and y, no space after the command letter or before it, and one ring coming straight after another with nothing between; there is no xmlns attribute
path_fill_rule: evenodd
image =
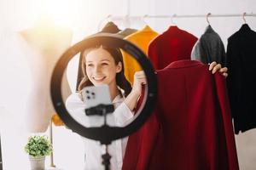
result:
<svg viewBox="0 0 256 170"><path fill-rule="evenodd" d="M137 59L137 62L143 68L147 78L148 85L145 88L146 93L144 94L143 100L144 107L143 109L140 108L139 112L141 113L137 114L137 118L125 127L109 127L107 124L102 127L84 127L70 116L65 107L65 102L61 97L61 79L68 62L73 58L73 56L84 51L84 49L100 45L110 48L121 48L128 54L131 54L132 57ZM105 169L109 169L110 156L108 154L108 144L115 139L121 139L136 132L139 127L143 126L143 123L146 122L151 111L154 109L157 94L157 80L150 61L140 48L137 48L133 43L114 36L113 34L102 33L85 38L83 41L73 45L73 47L68 48L67 51L62 54L61 58L55 65L55 69L51 77L50 93L55 111L67 127L73 129L73 132L79 133L85 138L98 140L101 144L106 144L107 152L102 156L102 163L104 164Z"/></svg>

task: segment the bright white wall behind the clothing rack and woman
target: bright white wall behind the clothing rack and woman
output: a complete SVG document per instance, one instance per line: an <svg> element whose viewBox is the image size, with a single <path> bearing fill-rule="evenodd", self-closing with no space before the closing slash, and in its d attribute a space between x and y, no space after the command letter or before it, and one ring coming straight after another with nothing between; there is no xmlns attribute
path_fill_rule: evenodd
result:
<svg viewBox="0 0 256 170"><path fill-rule="evenodd" d="M16 166L27 166L26 154L23 152L23 145L26 142L26 130L24 128L24 102L28 88L32 84L25 54L22 54L20 47L16 43L15 32L31 27L38 20L40 14L44 13L46 3L43 0L0 0L0 123L3 125L14 124L15 126L0 126L1 133L6 141L3 148L3 166L5 169L15 169L15 165L11 164L11 156L9 150L15 148L16 158L22 161L17 162ZM46 1L44 1L46 2ZM73 43L78 42L85 36L95 33L108 20L104 19L108 14L112 15L144 15L144 14L242 14L243 12L256 13L256 3L254 0L51 0L49 3L55 9L51 13L56 12L58 16L56 20L66 22L66 26L73 30ZM44 5L42 5L44 4ZM68 5L67 5L68 4ZM130 4L130 5L128 5ZM58 5L58 6L57 6ZM128 7L130 10L128 11ZM61 12L58 9L64 8ZM49 9L49 8L48 8ZM64 11L64 12L63 12ZM49 11L50 13L50 11ZM63 20L63 18L65 20ZM256 17L247 17L248 25L256 30ZM241 18L209 18L212 28L218 32L226 46L227 38L232 33L239 30L243 20ZM148 25L155 31L165 31L171 26L170 19L147 19ZM205 18L187 18L174 19L177 26L183 30L193 33L196 37L200 37L207 21ZM138 26L131 21L132 26ZM120 24L122 28L122 24ZM137 27L139 29L139 27ZM71 69L76 72L76 70ZM75 80L73 76L71 80ZM75 82L73 81L73 88ZM1 124L0 124L1 125ZM78 136L68 131L65 127L55 127L55 164L59 167L72 167L72 164L79 165L81 161L82 147ZM15 133L14 133L15 132ZM256 161L256 130L253 129L247 133L236 136L236 144L239 155L241 169L253 170ZM15 141L14 145L8 145L9 141ZM68 148L72 153L70 156L63 156ZM66 152L67 153L67 152ZM77 154L77 156L75 156ZM70 159L70 161L67 161ZM77 161L74 161L77 160ZM26 162L25 162L26 161ZM79 167L75 168L79 169Z"/></svg>

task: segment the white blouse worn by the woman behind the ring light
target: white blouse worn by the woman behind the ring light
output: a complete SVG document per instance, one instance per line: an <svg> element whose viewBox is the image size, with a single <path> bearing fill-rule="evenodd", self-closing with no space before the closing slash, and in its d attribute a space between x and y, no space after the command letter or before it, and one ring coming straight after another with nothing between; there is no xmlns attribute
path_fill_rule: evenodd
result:
<svg viewBox="0 0 256 170"><path fill-rule="evenodd" d="M123 102L124 98L120 95L113 99L115 111L107 115L107 123L109 126L124 127L131 122L133 113ZM84 109L86 102L80 98L80 94L71 94L66 101L67 111L73 118L85 127L101 127L104 122L103 116L86 116ZM99 170L104 169L102 165L102 154L104 148L99 141L86 139L84 140L84 169ZM108 145L108 153L111 156L110 169L120 170L123 165L123 158L125 156L125 148L128 137L118 139Z"/></svg>

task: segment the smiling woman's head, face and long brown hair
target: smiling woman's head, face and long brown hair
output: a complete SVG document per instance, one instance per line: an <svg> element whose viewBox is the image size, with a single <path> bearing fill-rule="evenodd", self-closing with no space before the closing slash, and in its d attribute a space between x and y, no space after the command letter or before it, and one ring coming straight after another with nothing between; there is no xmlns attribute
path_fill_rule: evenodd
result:
<svg viewBox="0 0 256 170"><path fill-rule="evenodd" d="M125 90L125 96L127 96L131 92L131 84L126 80L123 68L122 54L119 49L103 46L86 49L82 61L84 78L79 84L79 91L92 84L108 84L110 94L114 96L118 85Z"/></svg>

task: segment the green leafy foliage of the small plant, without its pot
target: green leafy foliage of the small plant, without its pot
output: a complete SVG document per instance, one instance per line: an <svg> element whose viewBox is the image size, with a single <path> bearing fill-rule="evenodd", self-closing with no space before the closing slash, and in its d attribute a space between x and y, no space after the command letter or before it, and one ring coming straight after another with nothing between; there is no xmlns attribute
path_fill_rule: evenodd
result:
<svg viewBox="0 0 256 170"><path fill-rule="evenodd" d="M46 136L30 136L25 151L32 157L49 156L52 152L52 144Z"/></svg>

